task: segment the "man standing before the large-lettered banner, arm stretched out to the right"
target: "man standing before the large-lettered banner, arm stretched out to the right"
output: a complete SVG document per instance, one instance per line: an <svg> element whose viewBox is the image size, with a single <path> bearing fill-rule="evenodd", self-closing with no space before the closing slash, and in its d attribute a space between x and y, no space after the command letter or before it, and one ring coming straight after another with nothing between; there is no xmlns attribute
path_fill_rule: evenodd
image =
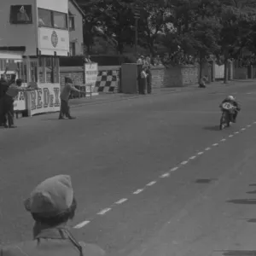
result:
<svg viewBox="0 0 256 256"><path fill-rule="evenodd" d="M67 119L75 119L75 117L72 117L70 115L70 108L69 108L69 104L68 104L69 96L72 91L83 93L83 91L77 90L73 86L72 79L65 78L65 85L64 85L63 90L61 91L61 110L60 110L59 119L65 119L64 118L65 116L67 117Z"/></svg>

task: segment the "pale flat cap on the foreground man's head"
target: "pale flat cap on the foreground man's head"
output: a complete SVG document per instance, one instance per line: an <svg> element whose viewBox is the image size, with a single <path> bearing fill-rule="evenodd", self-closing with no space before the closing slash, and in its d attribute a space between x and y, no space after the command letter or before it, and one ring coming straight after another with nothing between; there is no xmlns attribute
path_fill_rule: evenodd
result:
<svg viewBox="0 0 256 256"><path fill-rule="evenodd" d="M73 203L73 187L71 177L58 175L49 177L39 183L26 199L26 211L38 213L44 218L55 217L67 211Z"/></svg>

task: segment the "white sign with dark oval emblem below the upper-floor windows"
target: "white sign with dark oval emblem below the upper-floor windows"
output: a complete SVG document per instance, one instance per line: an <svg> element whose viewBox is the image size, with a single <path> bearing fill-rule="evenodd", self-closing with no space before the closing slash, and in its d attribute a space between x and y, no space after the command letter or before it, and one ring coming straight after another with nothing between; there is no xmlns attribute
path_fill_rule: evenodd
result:
<svg viewBox="0 0 256 256"><path fill-rule="evenodd" d="M69 51L69 35L66 30L47 27L38 28L39 50L42 55L67 55Z"/></svg>

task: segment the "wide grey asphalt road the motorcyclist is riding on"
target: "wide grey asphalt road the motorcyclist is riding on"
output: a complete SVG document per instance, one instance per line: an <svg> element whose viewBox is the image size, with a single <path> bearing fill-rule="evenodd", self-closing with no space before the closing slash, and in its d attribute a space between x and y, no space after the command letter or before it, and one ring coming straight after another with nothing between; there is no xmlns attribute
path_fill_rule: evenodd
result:
<svg viewBox="0 0 256 256"><path fill-rule="evenodd" d="M218 131L229 94L242 111ZM255 255L255 99L256 84L236 83L19 119L0 130L2 243L32 236L22 201L64 173L76 231L110 255Z"/></svg>

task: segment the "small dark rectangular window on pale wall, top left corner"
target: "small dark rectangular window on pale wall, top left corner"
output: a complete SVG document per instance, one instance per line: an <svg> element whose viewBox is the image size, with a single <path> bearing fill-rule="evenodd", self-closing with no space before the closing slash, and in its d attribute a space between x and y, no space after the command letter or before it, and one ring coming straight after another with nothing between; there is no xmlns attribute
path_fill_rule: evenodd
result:
<svg viewBox="0 0 256 256"><path fill-rule="evenodd" d="M32 5L11 5L11 24L32 24Z"/></svg>

